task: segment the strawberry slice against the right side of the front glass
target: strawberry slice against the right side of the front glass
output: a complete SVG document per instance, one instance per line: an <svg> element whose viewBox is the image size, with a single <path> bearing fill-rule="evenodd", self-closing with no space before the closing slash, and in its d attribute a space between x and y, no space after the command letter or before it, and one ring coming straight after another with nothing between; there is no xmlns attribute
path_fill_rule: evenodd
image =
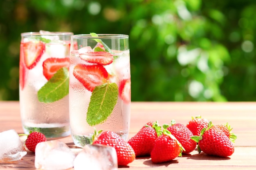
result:
<svg viewBox="0 0 256 170"><path fill-rule="evenodd" d="M126 104L131 101L131 79L123 79L119 86L119 96Z"/></svg>

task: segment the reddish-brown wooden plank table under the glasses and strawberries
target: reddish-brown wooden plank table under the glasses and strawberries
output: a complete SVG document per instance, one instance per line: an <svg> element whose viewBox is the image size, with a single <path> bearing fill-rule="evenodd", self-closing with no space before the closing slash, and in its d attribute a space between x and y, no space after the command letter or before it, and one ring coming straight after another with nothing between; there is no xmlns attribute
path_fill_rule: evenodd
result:
<svg viewBox="0 0 256 170"><path fill-rule="evenodd" d="M168 124L172 119L177 123L186 124L192 116L202 115L213 124L229 124L234 128L236 139L235 152L227 158L213 157L191 152L186 157L177 157L173 161L153 164L150 157L137 158L128 167L119 169L190 169L190 170L248 170L256 169L256 102L132 102L129 138L148 121L159 121ZM23 133L20 121L19 102L0 102L0 132L15 129ZM76 148L71 137L61 139L75 152ZM0 169L34 170L34 153L28 151L21 161L15 164L0 163Z"/></svg>

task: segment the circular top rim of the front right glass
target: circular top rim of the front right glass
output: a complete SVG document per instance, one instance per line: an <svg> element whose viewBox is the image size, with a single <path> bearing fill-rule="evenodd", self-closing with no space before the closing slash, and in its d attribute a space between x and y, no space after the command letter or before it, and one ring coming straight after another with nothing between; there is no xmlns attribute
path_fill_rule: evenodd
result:
<svg viewBox="0 0 256 170"><path fill-rule="evenodd" d="M95 38L95 39L111 39L111 38L129 38L126 34L97 34L98 37L92 36L90 34L76 34L71 35L71 38Z"/></svg>

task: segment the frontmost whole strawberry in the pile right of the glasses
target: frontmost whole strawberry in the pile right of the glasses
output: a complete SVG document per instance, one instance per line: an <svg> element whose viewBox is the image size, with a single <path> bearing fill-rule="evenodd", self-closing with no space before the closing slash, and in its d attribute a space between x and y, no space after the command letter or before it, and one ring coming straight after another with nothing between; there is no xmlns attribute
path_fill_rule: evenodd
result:
<svg viewBox="0 0 256 170"><path fill-rule="evenodd" d="M181 152L182 146L180 142L171 135L171 132L164 129L163 134L155 140L150 157L153 163L162 163L181 156Z"/></svg>

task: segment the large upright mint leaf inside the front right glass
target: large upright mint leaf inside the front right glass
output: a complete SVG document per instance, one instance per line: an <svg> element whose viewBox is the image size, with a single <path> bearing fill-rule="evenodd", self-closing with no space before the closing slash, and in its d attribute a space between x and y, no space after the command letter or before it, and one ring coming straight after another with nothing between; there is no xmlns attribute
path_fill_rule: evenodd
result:
<svg viewBox="0 0 256 170"><path fill-rule="evenodd" d="M101 124L117 104L118 87L115 83L96 86L92 91L86 121L90 126Z"/></svg>

